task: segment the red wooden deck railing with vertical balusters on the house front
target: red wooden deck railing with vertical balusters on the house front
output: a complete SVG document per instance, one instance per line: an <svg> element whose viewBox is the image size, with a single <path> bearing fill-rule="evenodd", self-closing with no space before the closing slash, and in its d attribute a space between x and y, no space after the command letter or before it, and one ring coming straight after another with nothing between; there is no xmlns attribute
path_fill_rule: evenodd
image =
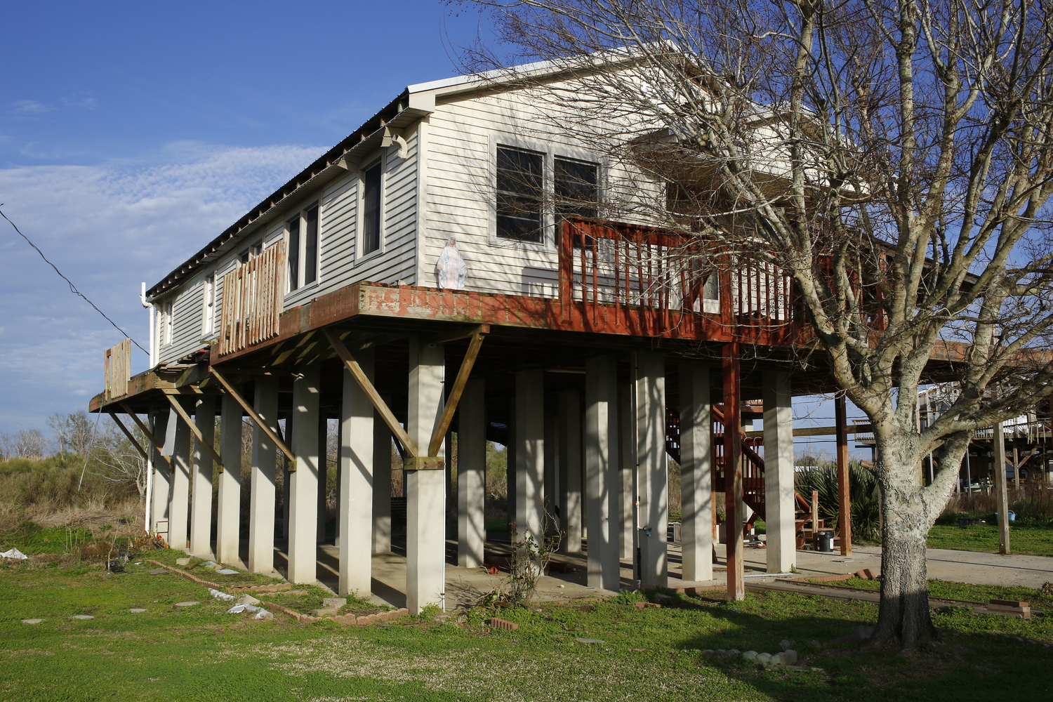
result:
<svg viewBox="0 0 1053 702"><path fill-rule="evenodd" d="M803 328L784 272L712 239L633 224L563 222L559 299L564 318L576 307L587 326L653 336L786 345Z"/></svg>

